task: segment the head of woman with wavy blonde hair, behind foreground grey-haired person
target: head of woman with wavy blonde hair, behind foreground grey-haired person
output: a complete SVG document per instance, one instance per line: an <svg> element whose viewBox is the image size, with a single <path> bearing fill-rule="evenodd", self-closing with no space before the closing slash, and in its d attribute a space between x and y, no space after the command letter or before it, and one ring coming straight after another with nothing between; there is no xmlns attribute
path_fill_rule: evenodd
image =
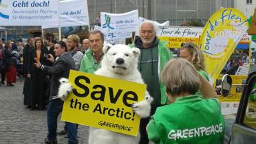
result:
<svg viewBox="0 0 256 144"><path fill-rule="evenodd" d="M195 43L182 43L180 49L180 58L184 58L194 65L198 73L209 81L209 76L205 71L204 55Z"/></svg>

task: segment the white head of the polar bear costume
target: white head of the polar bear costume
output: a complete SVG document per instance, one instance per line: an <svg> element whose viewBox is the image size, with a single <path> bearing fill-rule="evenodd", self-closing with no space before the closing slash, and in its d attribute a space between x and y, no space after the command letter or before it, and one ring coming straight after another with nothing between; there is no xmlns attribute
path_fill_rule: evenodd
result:
<svg viewBox="0 0 256 144"><path fill-rule="evenodd" d="M102 67L107 67L111 72L126 75L137 69L140 49L136 47L130 48L122 44L106 44L103 47L103 53L105 54L101 65Z"/></svg>

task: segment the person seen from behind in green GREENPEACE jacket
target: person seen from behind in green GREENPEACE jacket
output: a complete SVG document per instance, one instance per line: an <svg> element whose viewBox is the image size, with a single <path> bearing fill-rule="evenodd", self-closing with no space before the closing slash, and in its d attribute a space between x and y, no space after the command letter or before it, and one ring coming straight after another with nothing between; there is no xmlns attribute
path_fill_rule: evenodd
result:
<svg viewBox="0 0 256 144"><path fill-rule="evenodd" d="M157 108L147 125L149 140L156 144L223 143L224 118L215 89L191 62L170 60L161 80L170 99ZM202 96L196 94L201 91Z"/></svg>

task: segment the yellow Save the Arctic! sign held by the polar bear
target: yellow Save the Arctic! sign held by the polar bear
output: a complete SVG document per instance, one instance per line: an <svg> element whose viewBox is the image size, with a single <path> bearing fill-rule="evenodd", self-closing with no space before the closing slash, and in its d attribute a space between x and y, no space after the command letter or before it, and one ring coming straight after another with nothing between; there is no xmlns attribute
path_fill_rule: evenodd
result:
<svg viewBox="0 0 256 144"><path fill-rule="evenodd" d="M140 117L131 104L142 101L146 85L70 71L76 91L65 99L62 121L137 136Z"/></svg>

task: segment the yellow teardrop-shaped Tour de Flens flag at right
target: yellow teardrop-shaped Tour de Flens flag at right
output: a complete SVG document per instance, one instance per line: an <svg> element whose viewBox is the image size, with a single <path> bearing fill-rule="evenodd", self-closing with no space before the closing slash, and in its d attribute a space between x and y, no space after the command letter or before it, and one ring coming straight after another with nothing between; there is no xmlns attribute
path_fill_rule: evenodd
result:
<svg viewBox="0 0 256 144"><path fill-rule="evenodd" d="M200 42L211 84L219 77L247 29L246 16L234 8L222 8L206 23Z"/></svg>

